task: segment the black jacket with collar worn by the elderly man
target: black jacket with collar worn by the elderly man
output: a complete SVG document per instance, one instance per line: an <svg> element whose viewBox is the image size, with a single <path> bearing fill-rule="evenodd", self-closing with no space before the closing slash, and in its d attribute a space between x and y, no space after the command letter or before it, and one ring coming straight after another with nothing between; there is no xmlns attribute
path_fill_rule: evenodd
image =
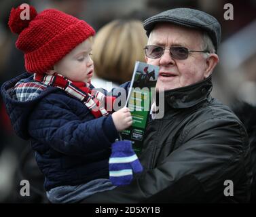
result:
<svg viewBox="0 0 256 217"><path fill-rule="evenodd" d="M248 136L238 117L211 97L211 90L208 77L166 91L164 117L147 125L143 174L128 186L96 193L83 202L248 202ZM229 180L234 196L224 194L232 193Z"/></svg>

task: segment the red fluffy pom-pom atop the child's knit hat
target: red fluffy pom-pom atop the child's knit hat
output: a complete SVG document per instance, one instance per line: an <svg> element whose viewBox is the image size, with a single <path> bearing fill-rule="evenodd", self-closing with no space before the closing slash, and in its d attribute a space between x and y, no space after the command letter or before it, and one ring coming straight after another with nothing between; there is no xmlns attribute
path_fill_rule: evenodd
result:
<svg viewBox="0 0 256 217"><path fill-rule="evenodd" d="M20 16L23 11L24 8L21 8L20 6L17 8L12 8L8 22L12 33L20 34L24 28L29 26L29 22L31 22L31 20L37 16L35 7L29 6L29 20L22 20Z"/></svg>

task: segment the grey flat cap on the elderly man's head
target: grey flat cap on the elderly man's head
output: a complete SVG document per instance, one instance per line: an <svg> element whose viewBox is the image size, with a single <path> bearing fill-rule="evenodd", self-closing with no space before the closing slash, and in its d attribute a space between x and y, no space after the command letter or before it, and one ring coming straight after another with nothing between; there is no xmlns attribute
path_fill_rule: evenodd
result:
<svg viewBox="0 0 256 217"><path fill-rule="evenodd" d="M221 41L221 25L218 20L210 14L191 8L170 9L152 16L151 18L147 18L147 20L143 22L148 37L154 26L160 22L170 22L180 26L205 31L208 33L209 37L211 37L215 50L217 51Z"/></svg>

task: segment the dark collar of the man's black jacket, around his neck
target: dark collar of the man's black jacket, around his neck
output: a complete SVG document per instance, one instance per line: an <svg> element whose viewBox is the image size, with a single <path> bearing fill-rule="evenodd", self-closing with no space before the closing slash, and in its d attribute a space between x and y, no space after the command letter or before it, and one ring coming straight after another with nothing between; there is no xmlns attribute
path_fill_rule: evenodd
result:
<svg viewBox="0 0 256 217"><path fill-rule="evenodd" d="M204 100L211 100L212 89L212 76L210 75L198 83L165 91L164 103L174 109L189 108Z"/></svg>

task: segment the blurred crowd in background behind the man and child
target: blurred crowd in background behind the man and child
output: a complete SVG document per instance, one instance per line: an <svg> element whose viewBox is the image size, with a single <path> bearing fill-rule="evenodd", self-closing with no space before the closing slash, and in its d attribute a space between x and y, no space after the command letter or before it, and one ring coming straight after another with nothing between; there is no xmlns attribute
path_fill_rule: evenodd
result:
<svg viewBox="0 0 256 217"><path fill-rule="evenodd" d="M0 1L0 86L25 72L24 56L16 49L16 36L7 26L11 8L21 3L34 5L38 12L46 8L59 9L86 20L95 28L92 58L96 75L92 83L96 87L107 81L115 86L131 79L134 62L144 59L147 37L142 21L145 18L175 7L191 7L212 14L222 28L220 62L213 73L213 96L229 106L234 106L238 100L256 106L255 0ZM234 20L225 20L223 16L226 3L234 7ZM47 202L30 144L14 134L1 97L0 128L0 203ZM20 196L23 179L31 183L30 197Z"/></svg>

